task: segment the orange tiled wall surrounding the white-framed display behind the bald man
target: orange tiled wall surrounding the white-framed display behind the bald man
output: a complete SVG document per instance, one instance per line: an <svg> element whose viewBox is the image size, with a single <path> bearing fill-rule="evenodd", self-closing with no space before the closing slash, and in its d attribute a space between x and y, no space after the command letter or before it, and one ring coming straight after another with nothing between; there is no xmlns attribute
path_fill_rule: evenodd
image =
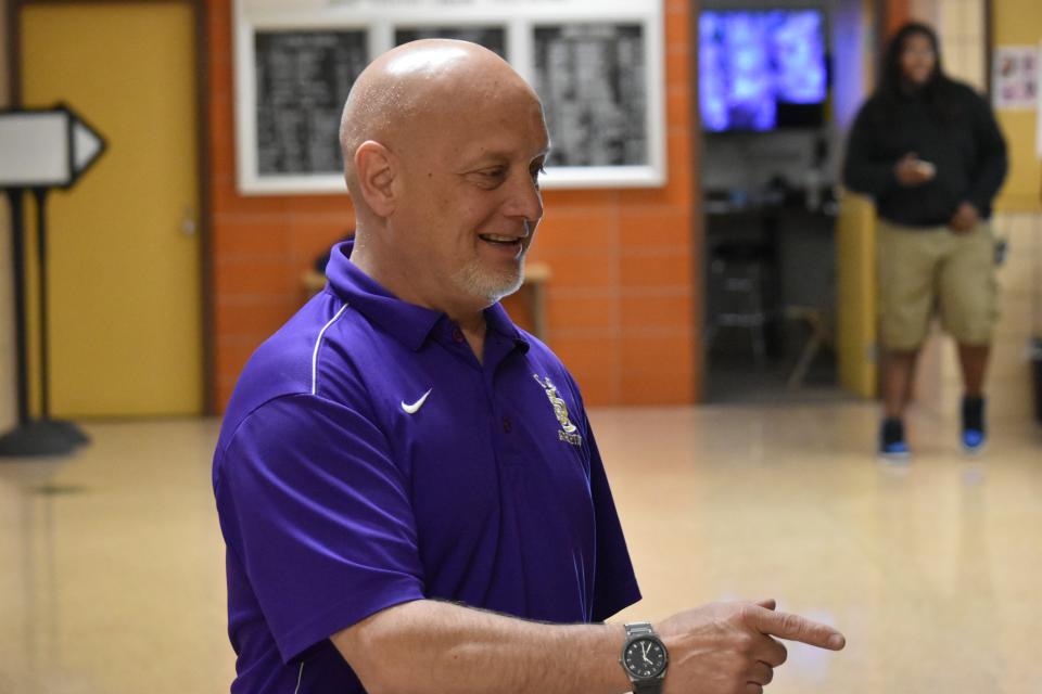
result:
<svg viewBox="0 0 1042 694"><path fill-rule="evenodd" d="M691 12L666 1L669 184L547 191L532 259L548 264L547 338L588 404L692 402L700 390ZM301 275L353 226L346 195L243 196L234 182L231 7L206 3L214 402L304 300ZM507 309L531 325L521 296Z"/></svg>

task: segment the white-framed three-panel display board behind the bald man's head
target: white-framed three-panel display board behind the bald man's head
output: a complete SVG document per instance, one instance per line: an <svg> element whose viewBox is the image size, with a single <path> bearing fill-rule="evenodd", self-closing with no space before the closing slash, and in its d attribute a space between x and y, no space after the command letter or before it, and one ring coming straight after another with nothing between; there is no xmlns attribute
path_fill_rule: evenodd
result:
<svg viewBox="0 0 1042 694"><path fill-rule="evenodd" d="M246 194L345 190L338 132L358 74L420 38L495 51L543 100L544 188L665 182L661 2L237 0L236 145Z"/></svg>

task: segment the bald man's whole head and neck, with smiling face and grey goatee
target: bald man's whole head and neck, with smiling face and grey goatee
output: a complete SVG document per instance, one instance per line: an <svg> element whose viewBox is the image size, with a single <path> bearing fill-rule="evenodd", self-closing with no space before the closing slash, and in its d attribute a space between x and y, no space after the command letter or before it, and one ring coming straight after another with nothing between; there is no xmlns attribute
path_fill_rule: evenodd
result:
<svg viewBox="0 0 1042 694"><path fill-rule="evenodd" d="M480 46L415 41L359 75L340 134L352 262L480 331L481 311L520 286L543 218L549 136L535 92Z"/></svg>

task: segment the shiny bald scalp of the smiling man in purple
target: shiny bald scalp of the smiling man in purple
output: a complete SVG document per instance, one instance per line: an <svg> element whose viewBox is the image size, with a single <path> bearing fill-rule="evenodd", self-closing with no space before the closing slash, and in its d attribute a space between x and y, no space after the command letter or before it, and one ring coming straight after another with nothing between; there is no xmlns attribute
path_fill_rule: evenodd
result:
<svg viewBox="0 0 1042 694"><path fill-rule="evenodd" d="M355 204L355 152L367 140L404 151L422 146L474 108L534 90L494 52L468 41L423 39L373 61L355 81L340 123L344 176Z"/></svg>

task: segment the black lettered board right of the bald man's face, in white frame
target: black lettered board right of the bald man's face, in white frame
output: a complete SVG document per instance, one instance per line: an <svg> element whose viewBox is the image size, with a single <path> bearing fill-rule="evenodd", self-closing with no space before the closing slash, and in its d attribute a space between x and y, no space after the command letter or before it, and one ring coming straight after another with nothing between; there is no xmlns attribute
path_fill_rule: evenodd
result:
<svg viewBox="0 0 1042 694"><path fill-rule="evenodd" d="M644 28L539 26L535 89L550 130L552 166L648 163Z"/></svg>

